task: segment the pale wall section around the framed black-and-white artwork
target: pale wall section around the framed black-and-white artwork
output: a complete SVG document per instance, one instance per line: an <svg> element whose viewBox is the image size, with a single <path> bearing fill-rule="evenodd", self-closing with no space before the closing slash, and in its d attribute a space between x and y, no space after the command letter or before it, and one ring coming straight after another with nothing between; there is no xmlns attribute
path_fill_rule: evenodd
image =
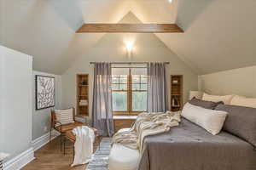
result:
<svg viewBox="0 0 256 170"><path fill-rule="evenodd" d="M61 108L61 76L40 71L33 71L32 74L32 139L37 139L49 132L50 111L52 108L36 110L35 76L55 77L55 108Z"/></svg>

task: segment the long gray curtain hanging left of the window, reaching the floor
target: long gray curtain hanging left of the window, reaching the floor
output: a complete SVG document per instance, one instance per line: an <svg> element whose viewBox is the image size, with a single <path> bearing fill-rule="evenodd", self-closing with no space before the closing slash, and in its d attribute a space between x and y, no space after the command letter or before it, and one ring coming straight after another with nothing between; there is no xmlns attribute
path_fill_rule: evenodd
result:
<svg viewBox="0 0 256 170"><path fill-rule="evenodd" d="M111 65L96 63L94 67L92 126L103 136L113 135Z"/></svg>

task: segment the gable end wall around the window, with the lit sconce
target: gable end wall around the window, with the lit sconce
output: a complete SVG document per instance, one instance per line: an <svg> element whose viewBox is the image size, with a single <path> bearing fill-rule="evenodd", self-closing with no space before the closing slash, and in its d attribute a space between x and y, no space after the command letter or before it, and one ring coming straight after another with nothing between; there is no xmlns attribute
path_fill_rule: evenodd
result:
<svg viewBox="0 0 256 170"><path fill-rule="evenodd" d="M128 14L122 22L137 22L134 15ZM128 59L125 51L125 40L134 41L134 51ZM104 35L93 48L80 51L71 67L62 75L62 106L76 105L76 74L90 74L90 113L92 105L93 65L90 61L169 61L166 65L168 90L170 92L170 75L183 75L184 100L188 99L189 90L197 90L197 75L183 63L166 45L154 34L108 33ZM166 94L169 95L170 93ZM170 98L170 95L169 95ZM170 100L170 99L169 99Z"/></svg>

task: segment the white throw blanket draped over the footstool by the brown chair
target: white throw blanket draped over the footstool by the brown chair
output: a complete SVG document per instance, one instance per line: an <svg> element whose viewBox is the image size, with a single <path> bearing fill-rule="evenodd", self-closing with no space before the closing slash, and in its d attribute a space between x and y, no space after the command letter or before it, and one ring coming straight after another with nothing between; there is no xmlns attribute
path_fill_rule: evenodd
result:
<svg viewBox="0 0 256 170"><path fill-rule="evenodd" d="M88 163L93 153L95 134L92 129L86 126L76 127L72 131L76 135L74 144L75 156L72 167Z"/></svg>

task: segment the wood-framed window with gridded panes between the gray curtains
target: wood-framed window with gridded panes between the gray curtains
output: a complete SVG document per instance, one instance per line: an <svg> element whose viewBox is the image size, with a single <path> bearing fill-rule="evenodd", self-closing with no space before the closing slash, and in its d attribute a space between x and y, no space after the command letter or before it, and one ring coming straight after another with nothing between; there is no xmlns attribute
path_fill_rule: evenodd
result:
<svg viewBox="0 0 256 170"><path fill-rule="evenodd" d="M112 69L114 115L137 115L147 110L146 75L146 68Z"/></svg>

